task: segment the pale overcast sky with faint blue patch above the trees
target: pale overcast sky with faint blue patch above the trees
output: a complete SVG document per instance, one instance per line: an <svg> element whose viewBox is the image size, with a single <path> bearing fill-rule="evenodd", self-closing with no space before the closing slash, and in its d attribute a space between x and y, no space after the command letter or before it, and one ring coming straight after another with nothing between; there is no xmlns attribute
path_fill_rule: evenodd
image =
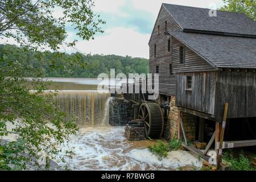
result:
<svg viewBox="0 0 256 182"><path fill-rule="evenodd" d="M94 11L106 21L105 32L94 40L79 40L76 48L83 53L148 58L148 40L162 3L212 8L213 3L220 7L222 0L95 0ZM67 26L67 32L68 40L76 37L72 27Z"/></svg>

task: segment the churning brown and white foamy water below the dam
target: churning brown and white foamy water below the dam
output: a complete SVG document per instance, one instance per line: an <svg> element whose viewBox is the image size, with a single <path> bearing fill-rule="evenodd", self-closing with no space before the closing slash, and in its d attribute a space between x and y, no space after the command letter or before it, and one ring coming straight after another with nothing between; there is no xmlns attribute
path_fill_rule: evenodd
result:
<svg viewBox="0 0 256 182"><path fill-rule="evenodd" d="M129 142L123 137L124 127L88 127L80 129L63 149L73 150L66 158L72 170L176 170L200 167L201 161L187 151L173 151L167 159L158 160L147 146L156 141ZM64 155L64 154L63 154ZM64 164L59 163L60 166Z"/></svg>

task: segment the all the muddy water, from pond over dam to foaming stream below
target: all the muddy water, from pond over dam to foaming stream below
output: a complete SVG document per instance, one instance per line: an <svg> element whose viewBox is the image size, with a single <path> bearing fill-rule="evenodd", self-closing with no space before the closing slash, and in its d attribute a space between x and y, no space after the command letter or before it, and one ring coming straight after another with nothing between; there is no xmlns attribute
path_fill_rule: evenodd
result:
<svg viewBox="0 0 256 182"><path fill-rule="evenodd" d="M57 161L72 170L175 170L200 167L197 157L188 151L172 151L167 159L158 160L147 146L156 140L129 142L123 137L124 127L109 126L109 92L97 92L97 81L81 78L50 78L49 89L61 89L55 97L55 105L69 117L75 117L80 126L76 136L61 146L63 151L72 150L67 163ZM84 90L83 90L84 89ZM114 111L111 111L114 112Z"/></svg>

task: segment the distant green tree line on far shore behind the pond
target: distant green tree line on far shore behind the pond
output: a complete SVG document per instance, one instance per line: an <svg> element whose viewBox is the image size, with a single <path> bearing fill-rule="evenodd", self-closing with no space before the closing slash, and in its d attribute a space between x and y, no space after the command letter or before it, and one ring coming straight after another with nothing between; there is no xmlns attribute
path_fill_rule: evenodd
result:
<svg viewBox="0 0 256 182"><path fill-rule="evenodd" d="M10 44L0 45L2 64L17 61L24 67L34 68L44 77L97 78L100 73L148 73L148 60L117 55L82 55L81 53L36 52ZM26 73L24 75L29 75ZM34 75L31 75L34 76Z"/></svg>

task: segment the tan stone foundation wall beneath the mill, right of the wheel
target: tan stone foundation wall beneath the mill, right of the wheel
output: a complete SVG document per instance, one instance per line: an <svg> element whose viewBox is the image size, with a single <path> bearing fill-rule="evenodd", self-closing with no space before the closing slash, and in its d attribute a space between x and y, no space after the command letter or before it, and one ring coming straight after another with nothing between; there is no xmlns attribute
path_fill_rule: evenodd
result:
<svg viewBox="0 0 256 182"><path fill-rule="evenodd" d="M171 96L170 98L170 112L168 114L168 121L166 129L164 130L164 138L167 140L177 139L179 130L179 110L176 106L176 98ZM182 113L181 118L183 119L184 130L187 134L188 140L195 140L196 136L196 116ZM181 129L180 129L181 130ZM180 131L180 136L182 137L182 131Z"/></svg>

